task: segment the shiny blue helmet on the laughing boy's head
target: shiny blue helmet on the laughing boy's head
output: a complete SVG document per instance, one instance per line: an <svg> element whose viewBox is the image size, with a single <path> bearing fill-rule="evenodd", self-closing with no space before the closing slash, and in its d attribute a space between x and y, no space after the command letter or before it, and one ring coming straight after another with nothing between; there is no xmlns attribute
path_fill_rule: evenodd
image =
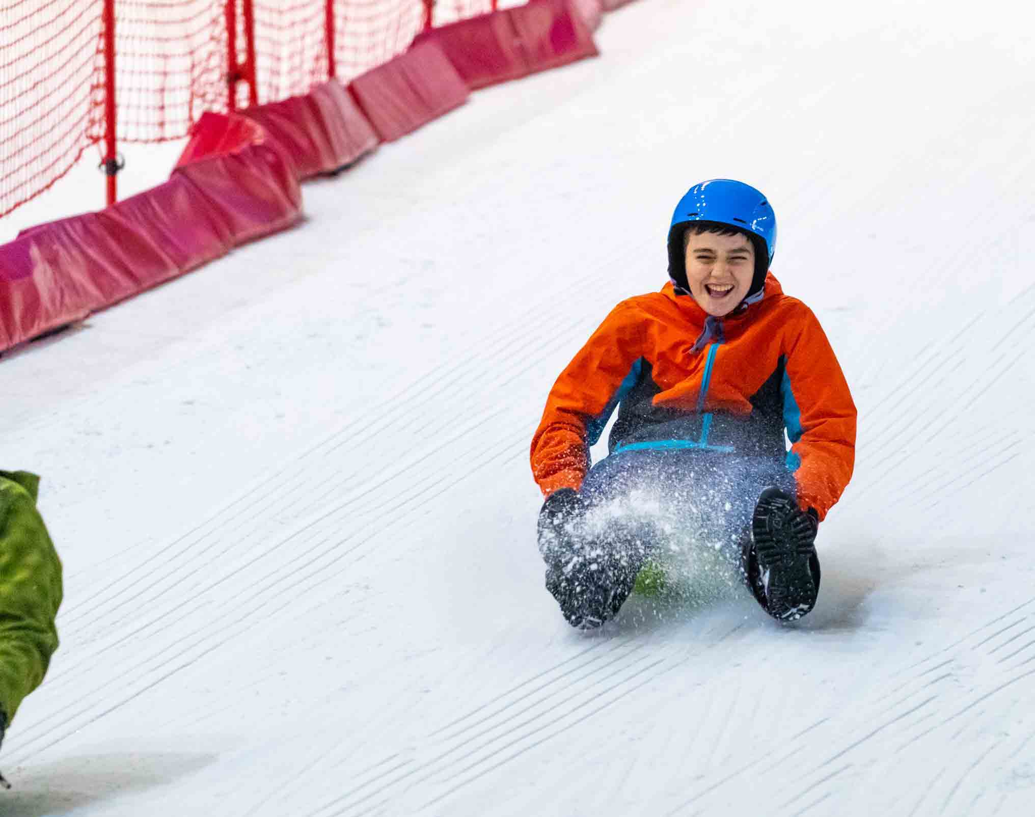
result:
<svg viewBox="0 0 1035 817"><path fill-rule="evenodd" d="M769 201L750 184L733 179L712 179L694 184L679 200L669 228L669 276L689 291L683 234L694 222L724 225L744 233L755 245L755 278L748 295L765 286L766 272L776 250L776 213Z"/></svg>

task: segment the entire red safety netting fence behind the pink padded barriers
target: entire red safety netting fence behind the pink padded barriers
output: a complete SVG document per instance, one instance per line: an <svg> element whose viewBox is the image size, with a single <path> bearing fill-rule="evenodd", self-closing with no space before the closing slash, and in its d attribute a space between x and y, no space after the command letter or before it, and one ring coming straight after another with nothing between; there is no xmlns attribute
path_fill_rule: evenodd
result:
<svg viewBox="0 0 1035 817"><path fill-rule="evenodd" d="M494 6L435 0L432 22ZM105 8L106 0L0 0L0 215L110 141ZM179 139L205 111L307 93L329 76L328 20L335 76L348 82L406 51L426 16L425 0L333 0L329 16L328 0L114 0L115 136Z"/></svg>

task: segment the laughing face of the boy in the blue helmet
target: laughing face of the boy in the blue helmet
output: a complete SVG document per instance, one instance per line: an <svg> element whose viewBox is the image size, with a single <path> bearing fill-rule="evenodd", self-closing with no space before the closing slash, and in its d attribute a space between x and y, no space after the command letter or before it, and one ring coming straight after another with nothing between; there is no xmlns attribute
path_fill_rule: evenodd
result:
<svg viewBox="0 0 1035 817"><path fill-rule="evenodd" d="M739 233L688 233L685 240L690 295L709 315L729 315L750 289L755 247L747 236Z"/></svg>

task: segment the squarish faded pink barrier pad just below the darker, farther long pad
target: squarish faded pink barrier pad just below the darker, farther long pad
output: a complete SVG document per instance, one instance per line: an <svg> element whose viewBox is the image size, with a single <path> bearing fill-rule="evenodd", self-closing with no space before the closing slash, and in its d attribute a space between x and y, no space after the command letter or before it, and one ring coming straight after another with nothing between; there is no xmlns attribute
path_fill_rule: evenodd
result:
<svg viewBox="0 0 1035 817"><path fill-rule="evenodd" d="M385 142L467 101L470 91L436 42L423 42L356 77L349 86Z"/></svg>

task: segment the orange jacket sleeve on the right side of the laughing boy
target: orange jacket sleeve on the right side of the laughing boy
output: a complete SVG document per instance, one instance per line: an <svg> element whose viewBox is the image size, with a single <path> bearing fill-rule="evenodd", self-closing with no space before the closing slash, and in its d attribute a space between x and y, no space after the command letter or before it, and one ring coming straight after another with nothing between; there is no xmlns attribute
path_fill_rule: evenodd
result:
<svg viewBox="0 0 1035 817"><path fill-rule="evenodd" d="M856 409L827 335L811 311L803 310L787 352L783 420L798 503L815 507L822 520L852 478Z"/></svg>

